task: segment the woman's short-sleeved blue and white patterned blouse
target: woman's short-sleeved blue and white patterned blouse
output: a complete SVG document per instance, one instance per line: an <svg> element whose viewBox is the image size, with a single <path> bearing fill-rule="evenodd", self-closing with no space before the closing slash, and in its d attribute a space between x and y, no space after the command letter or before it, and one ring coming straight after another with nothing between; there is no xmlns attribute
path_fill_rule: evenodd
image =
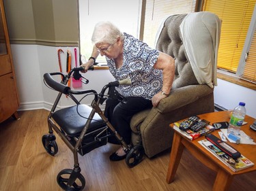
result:
<svg viewBox="0 0 256 191"><path fill-rule="evenodd" d="M115 61L106 57L109 71L116 80L130 78L131 86L119 86L117 91L124 97L152 99L162 88L162 70L154 69L159 52L147 44L124 33L123 65L115 68Z"/></svg>

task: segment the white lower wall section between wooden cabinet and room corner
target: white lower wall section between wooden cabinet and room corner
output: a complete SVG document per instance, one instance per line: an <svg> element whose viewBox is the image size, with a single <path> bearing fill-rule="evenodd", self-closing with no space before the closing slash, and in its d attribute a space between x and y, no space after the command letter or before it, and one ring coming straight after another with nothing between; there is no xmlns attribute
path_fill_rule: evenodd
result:
<svg viewBox="0 0 256 191"><path fill-rule="evenodd" d="M38 60L38 46L12 45L11 48L20 109L42 108L44 97Z"/></svg>

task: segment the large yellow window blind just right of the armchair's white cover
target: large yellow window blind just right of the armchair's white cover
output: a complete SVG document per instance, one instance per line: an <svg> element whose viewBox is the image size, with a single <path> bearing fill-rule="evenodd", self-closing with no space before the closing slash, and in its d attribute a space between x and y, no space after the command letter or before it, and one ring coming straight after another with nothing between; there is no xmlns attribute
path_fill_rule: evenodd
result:
<svg viewBox="0 0 256 191"><path fill-rule="evenodd" d="M256 0L205 0L203 11L221 20L218 67L236 73Z"/></svg>

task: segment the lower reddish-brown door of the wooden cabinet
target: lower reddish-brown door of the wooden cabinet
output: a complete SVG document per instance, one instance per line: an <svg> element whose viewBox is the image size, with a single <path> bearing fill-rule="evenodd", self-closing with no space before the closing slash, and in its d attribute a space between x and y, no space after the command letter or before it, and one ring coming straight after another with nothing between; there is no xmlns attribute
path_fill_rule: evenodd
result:
<svg viewBox="0 0 256 191"><path fill-rule="evenodd" d="M12 116L18 108L16 86L12 73L0 77L0 122Z"/></svg>

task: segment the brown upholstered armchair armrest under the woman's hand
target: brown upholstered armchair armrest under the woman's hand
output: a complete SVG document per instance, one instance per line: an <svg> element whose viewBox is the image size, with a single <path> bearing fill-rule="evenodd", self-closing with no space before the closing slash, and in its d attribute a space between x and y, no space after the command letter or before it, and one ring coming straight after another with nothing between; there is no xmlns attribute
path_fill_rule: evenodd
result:
<svg viewBox="0 0 256 191"><path fill-rule="evenodd" d="M184 105L188 105L189 103L193 103L212 92L213 88L210 88L206 84L176 88L171 90L169 97L160 101L156 109L160 113L165 114Z"/></svg>

